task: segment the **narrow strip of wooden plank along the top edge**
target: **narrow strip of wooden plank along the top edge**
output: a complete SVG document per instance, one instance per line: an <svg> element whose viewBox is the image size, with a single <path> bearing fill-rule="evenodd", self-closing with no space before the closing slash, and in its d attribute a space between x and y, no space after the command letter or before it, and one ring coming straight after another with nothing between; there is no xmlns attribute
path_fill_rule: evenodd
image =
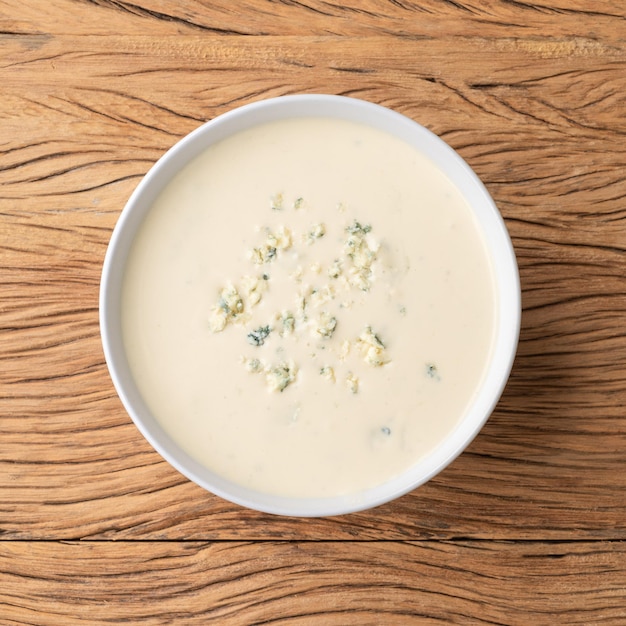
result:
<svg viewBox="0 0 626 626"><path fill-rule="evenodd" d="M63 19L59 19L59 15ZM0 31L22 34L341 35L393 34L439 38L478 36L546 40L590 36L624 42L624 7L612 0L508 2L489 0L2 0ZM567 44L565 44L567 45Z"/></svg>

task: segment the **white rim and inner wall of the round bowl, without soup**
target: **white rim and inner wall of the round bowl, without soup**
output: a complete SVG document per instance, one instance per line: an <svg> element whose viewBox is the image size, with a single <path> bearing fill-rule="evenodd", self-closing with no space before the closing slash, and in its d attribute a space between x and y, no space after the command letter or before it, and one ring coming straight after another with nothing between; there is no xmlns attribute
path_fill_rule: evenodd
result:
<svg viewBox="0 0 626 626"><path fill-rule="evenodd" d="M495 272L497 329L482 387L458 426L426 458L387 482L352 495L291 498L258 493L225 480L191 458L159 425L139 393L125 354L121 292L125 264L151 205L171 178L208 146L258 124L293 117L333 117L376 127L429 157L466 198L483 231ZM369 102L330 95L263 100L221 115L171 148L140 182L114 229L102 272L100 328L106 362L119 397L150 444L183 475L231 502L268 513L328 516L368 509L397 498L431 479L472 441L493 411L507 382L521 318L519 274L511 240L489 193L467 163L436 135L411 119Z"/></svg>

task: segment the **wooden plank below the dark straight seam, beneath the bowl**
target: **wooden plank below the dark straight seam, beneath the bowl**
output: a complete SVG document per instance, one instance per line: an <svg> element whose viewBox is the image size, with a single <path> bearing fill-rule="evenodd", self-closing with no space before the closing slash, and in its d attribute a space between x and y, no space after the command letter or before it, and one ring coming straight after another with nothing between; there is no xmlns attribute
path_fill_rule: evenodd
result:
<svg viewBox="0 0 626 626"><path fill-rule="evenodd" d="M621 543L0 543L4 624L623 624ZM556 565L555 565L556 564Z"/></svg>

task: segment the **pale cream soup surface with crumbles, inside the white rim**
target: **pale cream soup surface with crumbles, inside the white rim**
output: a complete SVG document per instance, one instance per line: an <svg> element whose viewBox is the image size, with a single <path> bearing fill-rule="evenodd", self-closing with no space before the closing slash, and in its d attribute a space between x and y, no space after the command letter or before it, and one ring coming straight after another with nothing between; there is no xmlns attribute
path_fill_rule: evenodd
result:
<svg viewBox="0 0 626 626"><path fill-rule="evenodd" d="M261 125L162 192L125 276L138 388L191 456L265 493L356 493L428 454L489 361L496 294L449 180L346 121Z"/></svg>

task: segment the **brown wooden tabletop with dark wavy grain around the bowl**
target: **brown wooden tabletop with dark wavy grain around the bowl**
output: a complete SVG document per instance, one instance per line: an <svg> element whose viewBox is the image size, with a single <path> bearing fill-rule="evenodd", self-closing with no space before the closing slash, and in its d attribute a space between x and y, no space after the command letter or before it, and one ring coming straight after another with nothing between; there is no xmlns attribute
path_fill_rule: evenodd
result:
<svg viewBox="0 0 626 626"><path fill-rule="evenodd" d="M470 448L375 510L286 519L190 483L102 354L124 203L268 96L443 137L518 254L518 357ZM626 624L626 5L0 0L0 623Z"/></svg>

